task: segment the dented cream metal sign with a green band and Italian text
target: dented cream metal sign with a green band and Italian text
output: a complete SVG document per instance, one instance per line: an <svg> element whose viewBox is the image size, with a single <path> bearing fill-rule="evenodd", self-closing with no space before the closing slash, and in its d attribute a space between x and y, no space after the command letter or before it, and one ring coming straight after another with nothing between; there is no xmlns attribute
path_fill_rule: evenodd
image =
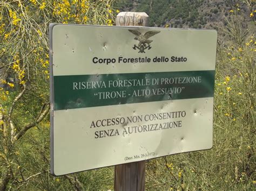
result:
<svg viewBox="0 0 256 191"><path fill-rule="evenodd" d="M217 32L50 25L51 173L212 147Z"/></svg>

